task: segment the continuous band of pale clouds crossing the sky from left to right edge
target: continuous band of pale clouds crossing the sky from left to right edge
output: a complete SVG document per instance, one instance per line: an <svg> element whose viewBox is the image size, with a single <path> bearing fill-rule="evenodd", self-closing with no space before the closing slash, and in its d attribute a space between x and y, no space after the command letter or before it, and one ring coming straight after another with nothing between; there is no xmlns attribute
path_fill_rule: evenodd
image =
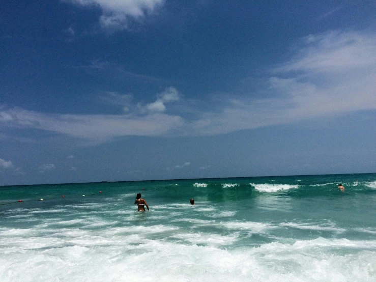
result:
<svg viewBox="0 0 376 282"><path fill-rule="evenodd" d="M274 98L252 99L250 93L234 99L228 95L221 110L190 109L200 112L192 118L170 113L167 103L188 106L176 88L168 87L146 105L130 104L128 96L120 97L126 101L123 115L43 114L3 107L0 126L40 129L103 143L130 135L215 135L376 109L376 34L310 35L294 50L290 61L273 68L265 78L267 91Z"/></svg>

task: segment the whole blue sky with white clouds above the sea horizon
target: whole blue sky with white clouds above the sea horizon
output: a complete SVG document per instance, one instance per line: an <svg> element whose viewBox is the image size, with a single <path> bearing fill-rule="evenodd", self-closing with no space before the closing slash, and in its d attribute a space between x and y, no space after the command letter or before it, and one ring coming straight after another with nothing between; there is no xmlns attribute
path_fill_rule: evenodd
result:
<svg viewBox="0 0 376 282"><path fill-rule="evenodd" d="M376 172L376 1L0 2L0 185Z"/></svg>

